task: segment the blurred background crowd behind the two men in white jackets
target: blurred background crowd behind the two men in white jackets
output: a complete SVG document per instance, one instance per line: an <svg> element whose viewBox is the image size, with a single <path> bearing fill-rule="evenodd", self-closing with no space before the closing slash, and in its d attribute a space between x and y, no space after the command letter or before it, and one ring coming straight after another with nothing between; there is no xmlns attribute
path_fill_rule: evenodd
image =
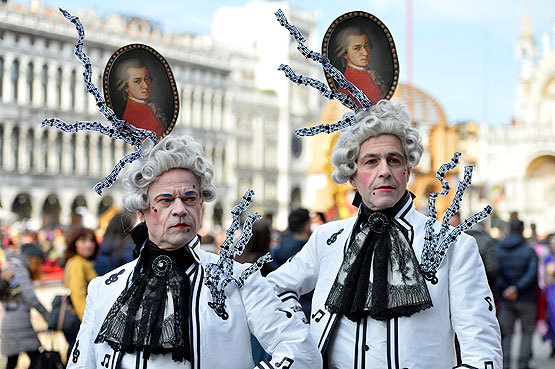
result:
<svg viewBox="0 0 555 369"><path fill-rule="evenodd" d="M322 218L321 213L304 208L294 209L288 217L288 228L282 232L273 229L267 221L260 220L253 227L253 236L244 253L236 261L253 263L269 252L273 262L261 270L266 276L303 248L315 223L321 224ZM27 354L30 368L34 368L38 360L40 342L31 325L30 309L36 309L45 320L49 311L37 299L33 282L49 281L51 278L48 276L57 273L56 267L61 268L63 285L81 321L89 282L97 275L105 275L133 260L135 245L129 231L136 223L137 219L130 214L116 214L102 235L99 230L82 225L74 225L65 232L61 229L49 232L25 230L21 234L3 226L0 254L0 299L4 311L1 352L6 357L7 369L16 367L20 353ZM456 221L453 225L457 225ZM491 237L483 224L467 231L477 241L494 296L492 304L497 307L506 368L510 367L511 340L516 331L522 335L516 354L518 368L529 367L534 334L551 342L551 357L555 357L555 234L525 238L523 231L524 223L517 218L510 220L497 238ZM59 239L60 234L63 239ZM222 237L223 232L206 233L202 237L201 248L218 254L216 239L222 240ZM312 294L300 296L307 320L311 319ZM75 344L78 328L64 332L68 342L66 355ZM269 358L256 338L251 338L254 361Z"/></svg>

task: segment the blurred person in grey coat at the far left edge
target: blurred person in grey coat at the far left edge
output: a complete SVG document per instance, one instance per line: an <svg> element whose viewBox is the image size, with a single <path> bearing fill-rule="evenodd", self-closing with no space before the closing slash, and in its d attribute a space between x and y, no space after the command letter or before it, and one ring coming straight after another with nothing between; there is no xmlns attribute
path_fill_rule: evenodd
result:
<svg viewBox="0 0 555 369"><path fill-rule="evenodd" d="M43 262L41 246L25 243L21 245L19 255L9 257L3 266L2 279L9 283L9 293L2 297L4 316L1 350L8 358L6 369L17 366L21 352L29 356L29 368L37 368L40 342L31 325L31 308L35 308L45 320L48 310L37 299L31 281L39 277Z"/></svg>

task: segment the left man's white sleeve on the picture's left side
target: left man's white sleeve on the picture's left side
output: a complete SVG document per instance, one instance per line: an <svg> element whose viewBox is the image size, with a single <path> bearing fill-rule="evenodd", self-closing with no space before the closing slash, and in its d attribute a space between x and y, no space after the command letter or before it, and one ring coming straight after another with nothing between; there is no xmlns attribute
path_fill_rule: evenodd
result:
<svg viewBox="0 0 555 369"><path fill-rule="evenodd" d="M83 321L77 334L75 346L67 358L67 369L96 368L95 345L94 345L94 312L97 302L100 278L93 279L87 288L87 302Z"/></svg>

